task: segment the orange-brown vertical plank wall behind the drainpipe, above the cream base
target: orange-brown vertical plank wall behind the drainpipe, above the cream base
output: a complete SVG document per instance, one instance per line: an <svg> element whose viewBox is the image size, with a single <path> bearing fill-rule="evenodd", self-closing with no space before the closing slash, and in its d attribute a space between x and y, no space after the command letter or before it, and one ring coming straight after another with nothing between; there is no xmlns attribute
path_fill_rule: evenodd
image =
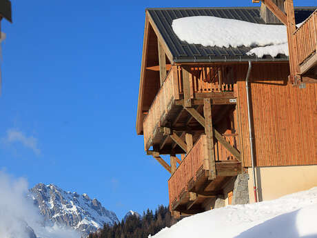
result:
<svg viewBox="0 0 317 238"><path fill-rule="evenodd" d="M236 75L243 163L250 167L247 66L237 66ZM285 63L252 67L256 166L317 164L317 83L307 83L304 89L285 85L287 75L289 66Z"/></svg>

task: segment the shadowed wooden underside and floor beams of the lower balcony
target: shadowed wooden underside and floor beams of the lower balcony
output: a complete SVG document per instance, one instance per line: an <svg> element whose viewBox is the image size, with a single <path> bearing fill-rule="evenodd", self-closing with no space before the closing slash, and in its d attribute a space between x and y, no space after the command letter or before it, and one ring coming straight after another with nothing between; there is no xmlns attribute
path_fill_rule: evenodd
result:
<svg viewBox="0 0 317 238"><path fill-rule="evenodd" d="M192 215L204 212L202 205L206 199L223 196L227 182L242 171L240 161L216 161L216 179L209 180L208 171L199 170L196 181L188 183L188 191L183 190L178 201L172 203L172 210L181 215ZM192 196L194 195L194 197Z"/></svg>

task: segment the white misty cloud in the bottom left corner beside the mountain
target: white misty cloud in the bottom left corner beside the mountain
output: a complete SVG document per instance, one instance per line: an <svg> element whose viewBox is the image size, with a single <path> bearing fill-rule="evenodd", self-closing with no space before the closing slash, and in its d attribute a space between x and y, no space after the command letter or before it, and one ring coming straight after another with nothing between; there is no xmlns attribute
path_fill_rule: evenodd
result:
<svg viewBox="0 0 317 238"><path fill-rule="evenodd" d="M0 171L0 238L80 238L81 234L45 221L28 194L28 181Z"/></svg>

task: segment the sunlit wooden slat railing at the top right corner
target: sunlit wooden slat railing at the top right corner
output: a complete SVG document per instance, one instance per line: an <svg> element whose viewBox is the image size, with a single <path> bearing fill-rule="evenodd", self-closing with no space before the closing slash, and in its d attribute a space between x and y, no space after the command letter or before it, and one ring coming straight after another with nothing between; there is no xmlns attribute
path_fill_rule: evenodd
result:
<svg viewBox="0 0 317 238"><path fill-rule="evenodd" d="M307 61L317 50L317 10L294 32L298 65Z"/></svg>

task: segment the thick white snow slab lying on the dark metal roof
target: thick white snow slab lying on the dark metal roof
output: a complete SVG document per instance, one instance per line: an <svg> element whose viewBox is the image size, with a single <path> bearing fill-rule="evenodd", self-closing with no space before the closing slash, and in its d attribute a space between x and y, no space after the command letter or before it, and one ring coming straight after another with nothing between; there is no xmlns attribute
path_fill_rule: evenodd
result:
<svg viewBox="0 0 317 238"><path fill-rule="evenodd" d="M175 19L172 28L177 37L187 43L226 48L260 46L250 50L248 54L256 54L258 57L263 57L264 54L272 57L277 54L288 55L287 31L283 25L197 16Z"/></svg>

